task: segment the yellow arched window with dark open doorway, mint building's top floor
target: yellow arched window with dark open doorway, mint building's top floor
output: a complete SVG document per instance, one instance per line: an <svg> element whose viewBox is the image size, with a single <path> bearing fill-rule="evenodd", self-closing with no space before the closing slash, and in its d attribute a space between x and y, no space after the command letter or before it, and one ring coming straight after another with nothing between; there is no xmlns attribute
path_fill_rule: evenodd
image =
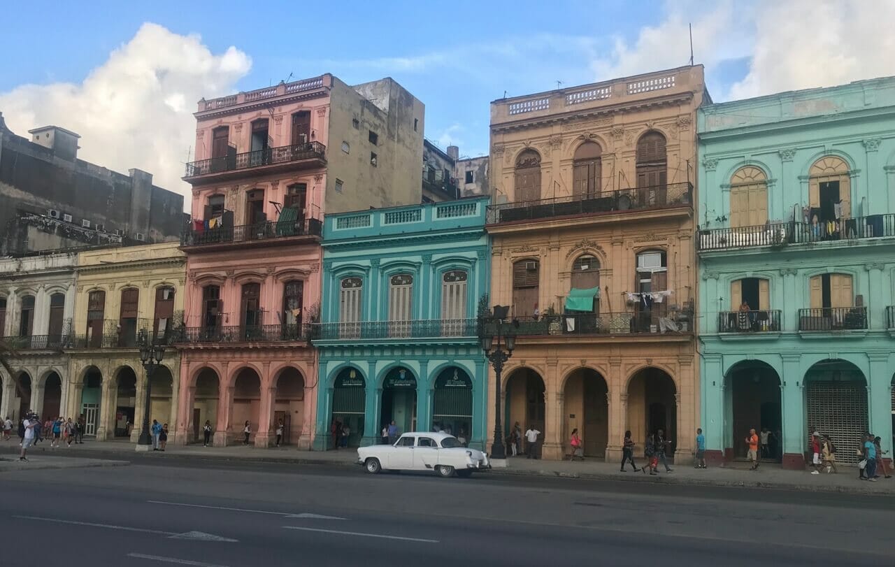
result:
<svg viewBox="0 0 895 567"><path fill-rule="evenodd" d="M848 164L841 157L827 156L818 159L808 171L808 222L831 223L851 216L851 178ZM866 214L866 213L865 213ZM871 231L875 231L873 226ZM875 232L873 236L882 235Z"/></svg>

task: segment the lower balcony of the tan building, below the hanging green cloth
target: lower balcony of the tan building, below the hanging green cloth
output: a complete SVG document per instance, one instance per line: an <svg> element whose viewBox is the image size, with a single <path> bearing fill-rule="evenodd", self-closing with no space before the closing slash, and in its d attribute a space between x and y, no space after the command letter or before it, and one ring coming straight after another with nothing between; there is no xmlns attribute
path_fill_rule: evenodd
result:
<svg viewBox="0 0 895 567"><path fill-rule="evenodd" d="M693 326L689 322L692 318L686 311L673 312L669 317L660 317L658 311L566 313L540 317L514 317L513 326L520 338L550 335L684 335L693 333ZM485 324L484 331L489 332L488 324ZM496 334L496 331L494 333Z"/></svg>

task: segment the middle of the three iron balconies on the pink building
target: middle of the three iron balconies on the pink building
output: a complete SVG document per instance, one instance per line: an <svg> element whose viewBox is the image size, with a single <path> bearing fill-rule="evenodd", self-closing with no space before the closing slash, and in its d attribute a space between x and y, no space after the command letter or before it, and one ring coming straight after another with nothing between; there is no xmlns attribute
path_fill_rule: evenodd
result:
<svg viewBox="0 0 895 567"><path fill-rule="evenodd" d="M181 246L201 246L209 250L214 248L232 248L245 243L285 240L296 237L320 238L323 223L316 218L282 221L265 221L256 224L238 226L221 226L208 230L192 230L182 233ZM288 241L286 241L288 242Z"/></svg>

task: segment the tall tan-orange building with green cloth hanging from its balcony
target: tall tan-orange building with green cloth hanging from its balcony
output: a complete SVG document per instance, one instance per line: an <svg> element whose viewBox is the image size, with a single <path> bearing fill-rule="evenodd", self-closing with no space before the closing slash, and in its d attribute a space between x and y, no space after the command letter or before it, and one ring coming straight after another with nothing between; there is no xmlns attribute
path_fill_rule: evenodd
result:
<svg viewBox="0 0 895 567"><path fill-rule="evenodd" d="M697 65L491 103L490 303L518 322L501 417L541 430L544 458L575 428L611 461L626 429L641 460L660 428L693 449L703 100Z"/></svg>

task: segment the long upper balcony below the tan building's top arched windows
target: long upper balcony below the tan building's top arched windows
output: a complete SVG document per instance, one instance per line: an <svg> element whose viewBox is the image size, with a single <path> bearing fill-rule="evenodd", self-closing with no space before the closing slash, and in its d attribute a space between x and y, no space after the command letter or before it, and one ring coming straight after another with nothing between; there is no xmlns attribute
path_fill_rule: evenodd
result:
<svg viewBox="0 0 895 567"><path fill-rule="evenodd" d="M603 191L596 196L575 195L503 203L488 207L488 224L541 221L562 216L606 216L635 211L693 207L693 185L670 183L655 187Z"/></svg>

